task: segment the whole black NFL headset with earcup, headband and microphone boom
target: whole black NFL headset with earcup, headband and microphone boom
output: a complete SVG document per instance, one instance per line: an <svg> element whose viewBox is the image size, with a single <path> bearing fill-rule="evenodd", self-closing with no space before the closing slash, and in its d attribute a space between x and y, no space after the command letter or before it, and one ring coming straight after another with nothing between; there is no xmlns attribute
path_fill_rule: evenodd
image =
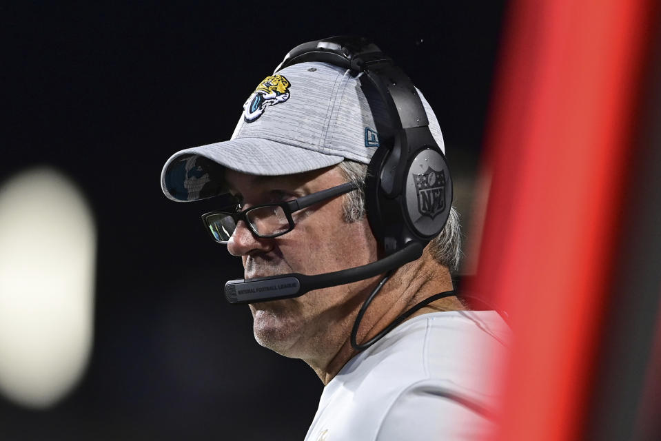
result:
<svg viewBox="0 0 661 441"><path fill-rule="evenodd" d="M445 155L429 130L423 102L403 70L364 37L340 36L296 46L287 53L274 74L307 61L336 65L355 75L362 72L387 107L393 134L383 139L379 136L380 145L367 166L365 181L367 219L383 258L360 267L315 276L292 273L230 280L225 284L225 298L230 303L298 297L313 289L389 273L420 258L429 241L443 230L450 214L453 192ZM385 280L368 300L376 295ZM449 293L442 294L454 295ZM436 300L439 295L429 299ZM425 305L433 301L427 300ZM367 305L369 301L365 309ZM416 305L422 306L423 302ZM360 317L362 313L361 309Z"/></svg>

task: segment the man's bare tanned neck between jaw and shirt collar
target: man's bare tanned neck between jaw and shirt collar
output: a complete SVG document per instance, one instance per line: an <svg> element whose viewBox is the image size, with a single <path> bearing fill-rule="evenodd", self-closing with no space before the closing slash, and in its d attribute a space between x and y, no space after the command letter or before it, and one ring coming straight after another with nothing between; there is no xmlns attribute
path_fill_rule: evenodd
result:
<svg viewBox="0 0 661 441"><path fill-rule="evenodd" d="M376 282L360 293L360 298L365 299L369 293L376 287L380 278ZM414 307L418 302L425 300L439 292L450 291L452 289L452 280L447 267L443 267L431 258L425 251L423 257L411 262L398 269L391 278L385 283L383 288L376 295L372 303L365 311L365 316L360 322L360 328L356 340L358 343L365 342L376 336L382 329L385 329L400 314ZM324 367L318 367L309 363L324 384L328 384L344 365L358 353L351 345L350 334L358 310L362 306L362 301L356 302L343 329L344 340L341 340L335 355L325 363ZM465 309L456 296L440 298L429 305L420 308L414 314L411 314L407 320L429 314L436 311L456 311ZM348 325L348 326L347 326Z"/></svg>

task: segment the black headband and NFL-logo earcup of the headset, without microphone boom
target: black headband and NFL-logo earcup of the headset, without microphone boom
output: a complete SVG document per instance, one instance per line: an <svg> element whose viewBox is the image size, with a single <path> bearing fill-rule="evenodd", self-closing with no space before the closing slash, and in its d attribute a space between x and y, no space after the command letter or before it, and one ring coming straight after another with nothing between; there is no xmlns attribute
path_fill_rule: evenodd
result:
<svg viewBox="0 0 661 441"><path fill-rule="evenodd" d="M276 72L306 61L363 72L383 99L393 134L388 139L379 136L380 146L367 168L367 218L386 256L411 241L425 247L447 222L452 181L415 86L390 57L363 37L330 37L298 45Z"/></svg>

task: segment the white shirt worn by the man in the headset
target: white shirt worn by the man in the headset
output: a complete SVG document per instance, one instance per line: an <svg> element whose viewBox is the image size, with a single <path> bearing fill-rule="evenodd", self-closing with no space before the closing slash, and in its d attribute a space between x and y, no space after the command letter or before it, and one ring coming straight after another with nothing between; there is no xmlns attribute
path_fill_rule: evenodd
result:
<svg viewBox="0 0 661 441"><path fill-rule="evenodd" d="M494 429L492 368L510 333L495 311L407 320L326 385L305 440L480 439Z"/></svg>

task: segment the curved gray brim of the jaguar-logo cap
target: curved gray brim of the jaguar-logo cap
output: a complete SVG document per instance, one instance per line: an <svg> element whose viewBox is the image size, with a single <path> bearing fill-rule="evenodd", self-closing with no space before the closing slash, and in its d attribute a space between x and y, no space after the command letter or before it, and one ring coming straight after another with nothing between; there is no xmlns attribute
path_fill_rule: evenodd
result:
<svg viewBox="0 0 661 441"><path fill-rule="evenodd" d="M223 194L218 165L247 174L281 176L329 167L343 159L269 139L238 138L176 152L163 166L161 187L173 201L196 201Z"/></svg>

